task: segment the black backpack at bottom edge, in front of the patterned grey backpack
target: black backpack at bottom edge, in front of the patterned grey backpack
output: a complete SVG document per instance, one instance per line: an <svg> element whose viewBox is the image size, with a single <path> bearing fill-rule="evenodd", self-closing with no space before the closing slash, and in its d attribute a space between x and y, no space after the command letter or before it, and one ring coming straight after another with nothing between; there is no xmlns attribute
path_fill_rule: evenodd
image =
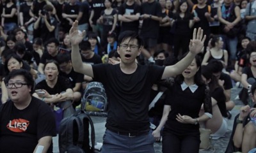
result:
<svg viewBox="0 0 256 153"><path fill-rule="evenodd" d="M89 131L89 124L91 131ZM91 143L90 146L90 132ZM95 133L92 119L84 111L79 110L71 117L61 120L59 133L60 153L92 153L94 152Z"/></svg>

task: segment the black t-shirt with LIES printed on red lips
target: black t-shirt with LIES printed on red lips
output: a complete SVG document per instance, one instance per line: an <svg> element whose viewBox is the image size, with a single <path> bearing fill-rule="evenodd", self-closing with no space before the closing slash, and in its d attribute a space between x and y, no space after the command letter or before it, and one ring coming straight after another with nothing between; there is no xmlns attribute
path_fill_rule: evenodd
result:
<svg viewBox="0 0 256 153"><path fill-rule="evenodd" d="M0 110L0 152L33 152L40 138L56 136L51 108L33 96L23 110L17 109L11 100ZM52 146L48 151L52 152Z"/></svg>

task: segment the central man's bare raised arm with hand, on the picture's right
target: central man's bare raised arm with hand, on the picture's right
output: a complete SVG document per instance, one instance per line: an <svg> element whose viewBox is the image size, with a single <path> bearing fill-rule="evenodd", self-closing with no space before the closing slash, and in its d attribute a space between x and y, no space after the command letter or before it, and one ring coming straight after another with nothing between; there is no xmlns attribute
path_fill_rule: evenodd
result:
<svg viewBox="0 0 256 153"><path fill-rule="evenodd" d="M206 36L204 35L203 37L203 32L203 29L201 29L200 27L198 28L197 32L196 29L194 29L193 40L190 40L189 43L188 55L186 55L186 57L177 62L177 64L173 66L166 66L162 79L179 75L182 73L182 71L184 71L184 69L188 68L189 64L191 64L196 54L200 53L202 48L204 47L204 41Z"/></svg>

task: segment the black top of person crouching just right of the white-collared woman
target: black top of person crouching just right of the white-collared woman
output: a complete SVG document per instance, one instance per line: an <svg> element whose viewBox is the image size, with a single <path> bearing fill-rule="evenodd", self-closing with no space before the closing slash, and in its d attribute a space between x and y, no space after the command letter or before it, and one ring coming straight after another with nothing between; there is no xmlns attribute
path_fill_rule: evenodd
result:
<svg viewBox="0 0 256 153"><path fill-rule="evenodd" d="M221 87L214 89L214 91L211 92L211 97L217 101L217 105L220 108L221 115L223 117L228 117L226 108L226 96L223 89Z"/></svg>

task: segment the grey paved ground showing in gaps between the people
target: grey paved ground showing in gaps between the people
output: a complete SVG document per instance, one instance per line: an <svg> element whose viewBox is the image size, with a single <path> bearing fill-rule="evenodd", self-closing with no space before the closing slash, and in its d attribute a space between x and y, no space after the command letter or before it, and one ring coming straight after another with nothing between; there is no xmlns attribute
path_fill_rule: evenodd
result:
<svg viewBox="0 0 256 153"><path fill-rule="evenodd" d="M231 95L231 99L234 100L238 94L238 92L241 90L241 88L236 88L234 87L232 89L232 95ZM224 153L225 149L227 147L228 144L228 140L230 138L231 135L231 131L232 131L232 126L233 126L233 122L234 122L234 117L237 115L237 113L239 113L239 108L241 106L243 106L243 103L241 103L241 101L239 100L235 100L236 106L235 108L231 111L232 113L232 118L230 120L228 120L228 132L226 133L224 138L220 138L218 140L212 140L212 147L211 149L207 150L207 151L200 151L200 153L212 153L212 152L216 152L216 153ZM95 128L95 139L96 142L102 142L102 136L104 135L104 131L105 131L105 123L106 123L106 117L92 117L93 120L93 124L94 124L94 128ZM54 153L58 153L58 136L56 136L53 140L54 142ZM160 153L162 152L162 147L161 147L161 143L155 143L154 144L156 153Z"/></svg>

